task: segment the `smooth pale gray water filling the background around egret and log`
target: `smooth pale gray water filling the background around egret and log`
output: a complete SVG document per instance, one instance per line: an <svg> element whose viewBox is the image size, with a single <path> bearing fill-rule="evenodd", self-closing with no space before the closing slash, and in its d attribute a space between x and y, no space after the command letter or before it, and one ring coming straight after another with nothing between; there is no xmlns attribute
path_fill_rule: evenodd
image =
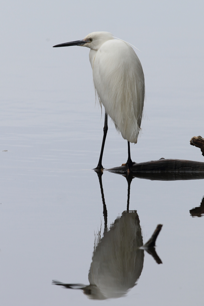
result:
<svg viewBox="0 0 204 306"><path fill-rule="evenodd" d="M98 249L107 248L92 170L104 110L101 117L95 106L88 49L52 46L93 31L136 45L146 116L132 159L204 162L189 144L204 137L203 3L2 1L1 15L1 305L203 305L204 218L189 212L200 206L203 180L132 180L129 209L137 211L140 241L163 224L156 242L162 264L142 251L140 276L123 297L90 300L83 290L52 285L89 285L100 231ZM126 160L127 143L109 121L103 166ZM128 183L104 171L102 184L110 229L127 209Z"/></svg>

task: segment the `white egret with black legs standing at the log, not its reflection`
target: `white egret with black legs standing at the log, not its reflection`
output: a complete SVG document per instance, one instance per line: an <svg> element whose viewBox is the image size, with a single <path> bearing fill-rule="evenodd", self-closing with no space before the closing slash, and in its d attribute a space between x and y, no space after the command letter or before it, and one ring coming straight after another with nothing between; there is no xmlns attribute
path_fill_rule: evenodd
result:
<svg viewBox="0 0 204 306"><path fill-rule="evenodd" d="M108 130L108 115L124 139L128 140L128 170L133 162L130 142L137 143L143 115L145 84L142 65L130 44L114 39L109 32L92 32L82 40L53 47L83 46L90 48L89 60L99 103L105 108L105 125L98 166L102 170L102 155Z"/></svg>

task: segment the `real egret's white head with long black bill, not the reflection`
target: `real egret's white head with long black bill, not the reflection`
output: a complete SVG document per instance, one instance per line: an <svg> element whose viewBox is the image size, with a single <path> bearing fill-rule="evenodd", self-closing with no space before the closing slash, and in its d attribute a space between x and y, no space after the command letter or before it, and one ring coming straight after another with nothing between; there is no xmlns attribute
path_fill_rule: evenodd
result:
<svg viewBox="0 0 204 306"><path fill-rule="evenodd" d="M92 32L84 39L71 41L69 43L61 43L53 47L69 47L69 46L83 46L93 50L98 50L107 40L114 39L109 32Z"/></svg>

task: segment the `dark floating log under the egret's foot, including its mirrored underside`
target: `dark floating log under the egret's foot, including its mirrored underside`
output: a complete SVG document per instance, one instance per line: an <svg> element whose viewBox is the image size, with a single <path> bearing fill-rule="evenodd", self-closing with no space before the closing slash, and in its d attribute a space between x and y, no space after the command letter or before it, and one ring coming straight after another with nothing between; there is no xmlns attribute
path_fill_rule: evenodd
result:
<svg viewBox="0 0 204 306"><path fill-rule="evenodd" d="M204 162L183 159L159 159L135 163L130 168L133 177L149 180L174 181L204 179ZM126 175L127 166L107 169L109 172Z"/></svg>

